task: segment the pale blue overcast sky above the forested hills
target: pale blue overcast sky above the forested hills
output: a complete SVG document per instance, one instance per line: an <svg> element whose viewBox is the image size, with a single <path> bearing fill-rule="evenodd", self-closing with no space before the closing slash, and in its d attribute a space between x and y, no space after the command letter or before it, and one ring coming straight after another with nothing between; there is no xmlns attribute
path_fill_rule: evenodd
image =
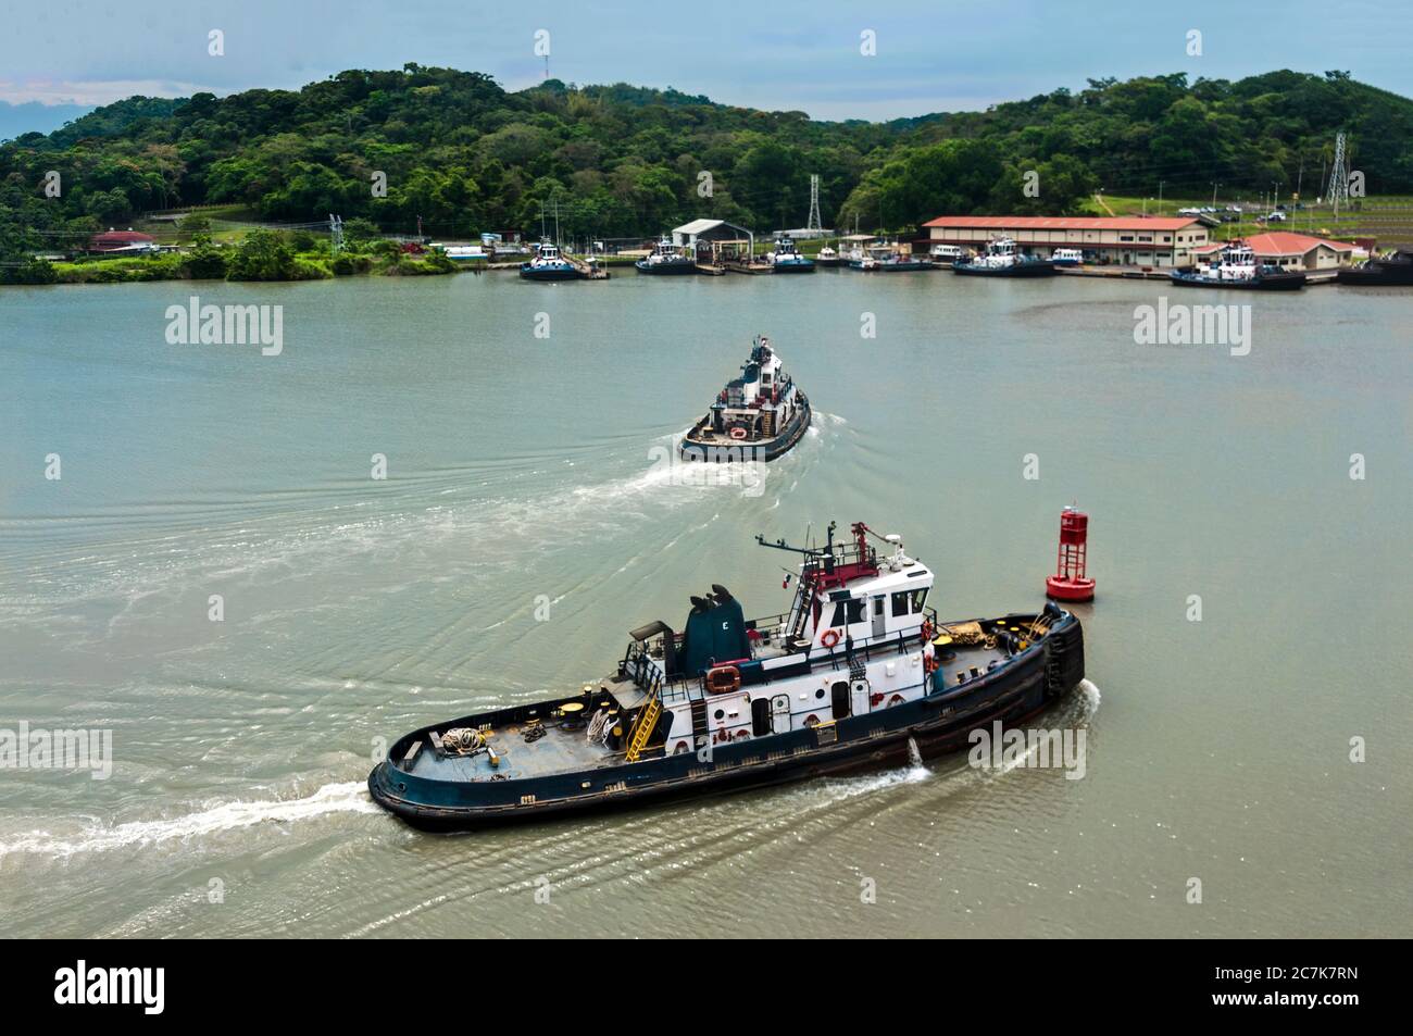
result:
<svg viewBox="0 0 1413 1036"><path fill-rule="evenodd" d="M225 33L223 57L208 54L211 30ZM298 88L408 61L520 89L544 75L537 30L567 82L675 86L820 119L981 109L1166 72L1337 68L1413 95L1407 0L11 0L0 102L38 103L0 110L0 137L133 93ZM859 52L865 30L875 57ZM1187 54L1190 30L1201 57Z"/></svg>

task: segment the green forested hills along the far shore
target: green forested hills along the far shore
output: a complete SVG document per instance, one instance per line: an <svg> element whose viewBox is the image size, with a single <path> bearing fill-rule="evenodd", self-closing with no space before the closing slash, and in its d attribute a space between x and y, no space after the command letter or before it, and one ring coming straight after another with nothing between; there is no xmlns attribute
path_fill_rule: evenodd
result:
<svg viewBox="0 0 1413 1036"><path fill-rule="evenodd" d="M130 98L0 146L0 250L41 230L232 204L271 220L363 216L449 236L534 229L558 198L567 233L654 235L695 216L756 229L906 228L942 212L1074 211L1115 194L1320 189L1337 130L1368 191L1413 192L1413 102L1352 81L1270 72L1089 81L1080 92L890 123L814 122L677 90L547 81L507 93L476 72L407 65L301 90ZM57 170L64 191L42 192ZM1023 172L1040 174L1040 196ZM387 177L374 196L374 172ZM704 172L711 174L711 192Z"/></svg>

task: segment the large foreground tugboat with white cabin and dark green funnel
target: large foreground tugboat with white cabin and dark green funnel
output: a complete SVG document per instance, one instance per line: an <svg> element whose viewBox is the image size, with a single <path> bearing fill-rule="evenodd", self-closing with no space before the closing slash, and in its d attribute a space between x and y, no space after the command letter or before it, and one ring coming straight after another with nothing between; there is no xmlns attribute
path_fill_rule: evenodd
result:
<svg viewBox="0 0 1413 1036"><path fill-rule="evenodd" d="M822 547L756 537L800 555L787 612L746 619L712 584L682 632L639 626L578 694L398 738L373 800L418 828L480 830L848 773L965 749L1084 678L1080 620L1058 605L941 622L900 537L834 529Z"/></svg>

